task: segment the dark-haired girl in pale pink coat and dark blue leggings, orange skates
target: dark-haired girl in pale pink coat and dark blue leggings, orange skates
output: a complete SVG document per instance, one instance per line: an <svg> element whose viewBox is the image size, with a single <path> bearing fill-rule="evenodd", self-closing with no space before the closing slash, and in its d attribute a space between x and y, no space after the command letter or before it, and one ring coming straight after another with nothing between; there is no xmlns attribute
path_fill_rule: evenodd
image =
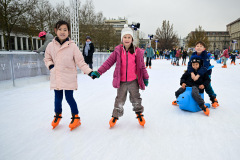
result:
<svg viewBox="0 0 240 160"><path fill-rule="evenodd" d="M55 26L55 37L45 51L44 62L50 70L50 89L55 92L55 116L52 121L53 129L59 124L62 118L63 90L65 98L70 105L72 121L69 128L80 126L77 103L73 98L73 90L77 90L77 68L76 65L89 75L92 69L85 63L82 53L77 45L68 38L70 26L65 21L58 21Z"/></svg>

